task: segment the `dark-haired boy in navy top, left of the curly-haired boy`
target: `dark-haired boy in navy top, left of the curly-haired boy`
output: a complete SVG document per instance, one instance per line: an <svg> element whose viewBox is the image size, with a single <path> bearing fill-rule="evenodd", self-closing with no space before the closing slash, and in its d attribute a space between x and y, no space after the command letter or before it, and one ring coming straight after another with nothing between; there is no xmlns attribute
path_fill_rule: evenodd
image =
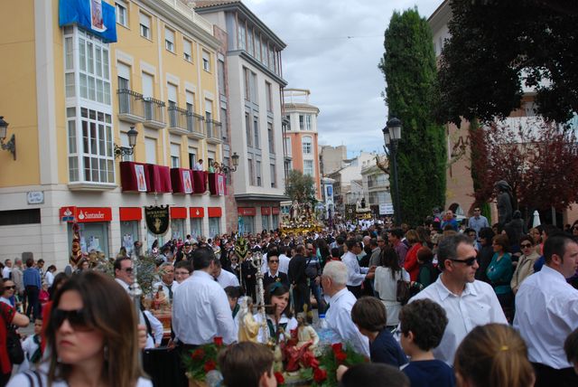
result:
<svg viewBox="0 0 578 387"><path fill-rule="evenodd" d="M386 307L378 298L359 298L351 308L351 319L361 335L369 339L371 362L387 363L398 368L407 363L406 354L387 330Z"/></svg>

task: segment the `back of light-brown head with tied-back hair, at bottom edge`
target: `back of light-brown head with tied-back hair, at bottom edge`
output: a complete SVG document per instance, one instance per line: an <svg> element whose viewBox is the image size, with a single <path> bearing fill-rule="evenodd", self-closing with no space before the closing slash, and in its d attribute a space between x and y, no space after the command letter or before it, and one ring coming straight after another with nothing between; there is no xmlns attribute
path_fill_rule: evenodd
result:
<svg viewBox="0 0 578 387"><path fill-rule="evenodd" d="M502 324L473 328L458 347L453 368L461 386L530 387L536 381L526 343Z"/></svg>

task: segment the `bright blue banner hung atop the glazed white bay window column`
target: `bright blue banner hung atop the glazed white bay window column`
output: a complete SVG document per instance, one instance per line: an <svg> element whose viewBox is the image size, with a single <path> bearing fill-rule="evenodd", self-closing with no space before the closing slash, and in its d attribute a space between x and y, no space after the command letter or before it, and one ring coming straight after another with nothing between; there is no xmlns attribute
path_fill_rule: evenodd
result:
<svg viewBox="0 0 578 387"><path fill-rule="evenodd" d="M61 0L59 25L77 24L105 42L117 42L115 7L104 0Z"/></svg>

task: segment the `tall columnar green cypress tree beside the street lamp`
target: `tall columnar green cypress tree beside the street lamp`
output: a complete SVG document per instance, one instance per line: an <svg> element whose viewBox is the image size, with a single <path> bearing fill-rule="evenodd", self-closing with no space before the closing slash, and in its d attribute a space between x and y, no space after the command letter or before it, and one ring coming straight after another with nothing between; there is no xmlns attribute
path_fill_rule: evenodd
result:
<svg viewBox="0 0 578 387"><path fill-rule="evenodd" d="M445 203L445 130L435 123L436 65L432 32L417 8L391 17L379 69L386 78L389 118L402 121L397 148L403 222L419 224ZM391 179L392 192L395 189Z"/></svg>

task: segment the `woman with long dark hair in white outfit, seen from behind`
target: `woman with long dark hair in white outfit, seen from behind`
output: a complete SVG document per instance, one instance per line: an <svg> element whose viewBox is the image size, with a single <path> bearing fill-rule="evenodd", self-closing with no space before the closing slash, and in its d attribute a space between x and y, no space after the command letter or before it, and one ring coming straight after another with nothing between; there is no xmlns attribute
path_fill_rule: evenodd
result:
<svg viewBox="0 0 578 387"><path fill-rule="evenodd" d="M399 266L396 250L387 246L381 251L381 266L376 269L374 288L387 310L387 326L399 324L401 303L397 301L397 280L409 281L409 273Z"/></svg>

